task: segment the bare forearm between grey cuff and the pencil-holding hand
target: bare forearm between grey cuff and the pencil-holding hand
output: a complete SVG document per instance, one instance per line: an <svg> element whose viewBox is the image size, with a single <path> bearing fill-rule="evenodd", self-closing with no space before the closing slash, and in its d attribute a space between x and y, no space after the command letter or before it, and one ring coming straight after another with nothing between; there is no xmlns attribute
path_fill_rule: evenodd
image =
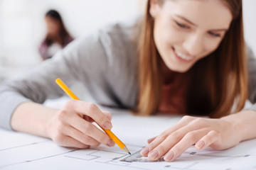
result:
<svg viewBox="0 0 256 170"><path fill-rule="evenodd" d="M49 137L48 122L57 113L54 108L47 108L38 103L22 103L11 118L11 128L20 132Z"/></svg>

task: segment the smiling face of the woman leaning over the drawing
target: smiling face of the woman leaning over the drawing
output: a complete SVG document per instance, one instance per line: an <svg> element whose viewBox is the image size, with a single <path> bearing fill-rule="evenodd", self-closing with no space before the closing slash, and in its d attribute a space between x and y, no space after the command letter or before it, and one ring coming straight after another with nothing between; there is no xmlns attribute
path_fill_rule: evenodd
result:
<svg viewBox="0 0 256 170"><path fill-rule="evenodd" d="M232 21L220 0L151 0L154 41L162 59L174 72L186 72L217 49Z"/></svg>

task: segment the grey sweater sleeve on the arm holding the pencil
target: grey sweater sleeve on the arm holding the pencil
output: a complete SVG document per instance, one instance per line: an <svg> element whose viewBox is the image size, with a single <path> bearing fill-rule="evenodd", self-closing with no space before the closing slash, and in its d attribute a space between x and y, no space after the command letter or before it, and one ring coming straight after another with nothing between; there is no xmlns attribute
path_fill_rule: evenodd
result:
<svg viewBox="0 0 256 170"><path fill-rule="evenodd" d="M48 98L63 96L64 92L55 84L57 78L68 86L75 81L92 86L95 77L103 79L107 64L105 56L99 33L95 33L73 41L53 59L42 62L21 77L1 84L0 127L11 130L11 115L21 103L43 103Z"/></svg>

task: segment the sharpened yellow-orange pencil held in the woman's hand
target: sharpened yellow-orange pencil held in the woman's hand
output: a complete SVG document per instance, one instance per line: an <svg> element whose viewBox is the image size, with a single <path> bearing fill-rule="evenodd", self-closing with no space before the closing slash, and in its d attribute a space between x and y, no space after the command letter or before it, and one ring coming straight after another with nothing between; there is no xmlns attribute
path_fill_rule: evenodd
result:
<svg viewBox="0 0 256 170"><path fill-rule="evenodd" d="M79 100L79 98L78 98L77 96L75 96L75 94L73 94L73 92L72 92L70 89L68 89L68 86L66 86L66 85L63 83L63 81L61 81L61 79L56 79L55 82L56 82L56 84L58 84L58 86L60 86L61 89L63 89L63 91L65 91L66 94L68 94L68 96L70 96L70 97L73 98L74 100ZM99 125L99 126L100 126L100 125ZM102 127L100 126L100 128L102 128ZM123 143L121 140L119 140L119 139L117 138L117 136L114 135L113 132L111 132L111 130L105 130L105 129L103 129L103 128L102 128L102 130L104 130L104 131L107 133L107 135L108 135L121 149L123 149L125 152L131 154L131 153L129 152L129 150L127 149L127 146L125 146L124 143Z"/></svg>

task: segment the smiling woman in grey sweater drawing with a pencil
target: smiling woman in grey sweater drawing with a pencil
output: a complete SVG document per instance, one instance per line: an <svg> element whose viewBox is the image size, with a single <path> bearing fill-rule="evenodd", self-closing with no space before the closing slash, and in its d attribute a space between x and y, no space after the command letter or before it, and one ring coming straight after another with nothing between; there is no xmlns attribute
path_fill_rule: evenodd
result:
<svg viewBox="0 0 256 170"><path fill-rule="evenodd" d="M227 149L256 137L256 106L242 110L247 98L256 101L255 75L241 0L149 0L143 19L76 40L31 74L1 86L0 125L64 147L113 146L91 123L112 128L111 114L95 104L70 100L60 110L39 104L63 96L56 78L68 86L81 81L105 106L184 115L141 152L169 162L194 144Z"/></svg>

